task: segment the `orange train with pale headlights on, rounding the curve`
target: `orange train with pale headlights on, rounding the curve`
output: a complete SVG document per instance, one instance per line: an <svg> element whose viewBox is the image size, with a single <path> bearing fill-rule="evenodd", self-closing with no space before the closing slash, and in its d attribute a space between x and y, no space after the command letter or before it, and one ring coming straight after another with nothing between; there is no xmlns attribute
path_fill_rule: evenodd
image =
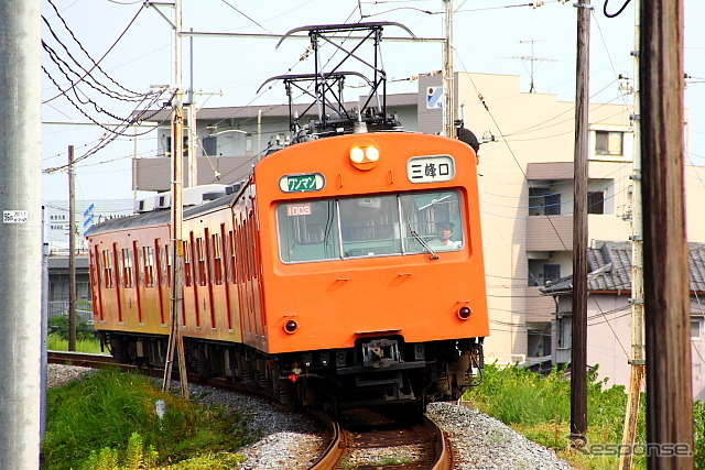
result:
<svg viewBox="0 0 705 470"><path fill-rule="evenodd" d="M312 140L228 193L184 209L189 370L327 408L423 409L476 382L489 325L467 144L403 131ZM152 210L87 236L95 325L120 361L164 364L170 228L170 211Z"/></svg>

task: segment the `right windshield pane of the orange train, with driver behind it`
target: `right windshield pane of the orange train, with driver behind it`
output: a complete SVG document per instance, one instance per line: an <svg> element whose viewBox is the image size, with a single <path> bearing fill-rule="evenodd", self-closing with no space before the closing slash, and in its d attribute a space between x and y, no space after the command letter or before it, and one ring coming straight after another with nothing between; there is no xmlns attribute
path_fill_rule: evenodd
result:
<svg viewBox="0 0 705 470"><path fill-rule="evenodd" d="M404 252L459 250L465 244L460 203L455 190L425 192L400 197L404 228ZM451 228L449 241L440 240L440 229ZM446 232L447 236L447 232ZM423 240L424 243L421 242Z"/></svg>

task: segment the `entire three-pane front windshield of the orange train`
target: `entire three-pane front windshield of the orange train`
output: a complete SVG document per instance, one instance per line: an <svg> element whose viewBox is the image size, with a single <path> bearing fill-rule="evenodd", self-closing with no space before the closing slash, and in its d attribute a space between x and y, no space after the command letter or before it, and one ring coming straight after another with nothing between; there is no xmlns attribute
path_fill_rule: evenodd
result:
<svg viewBox="0 0 705 470"><path fill-rule="evenodd" d="M284 263L434 253L465 244L456 190L282 203Z"/></svg>

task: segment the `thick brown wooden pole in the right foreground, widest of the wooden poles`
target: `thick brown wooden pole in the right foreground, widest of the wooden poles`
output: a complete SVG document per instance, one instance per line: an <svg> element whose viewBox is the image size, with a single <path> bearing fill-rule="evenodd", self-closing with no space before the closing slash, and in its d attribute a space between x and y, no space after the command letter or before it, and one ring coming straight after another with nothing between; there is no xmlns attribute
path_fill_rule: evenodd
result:
<svg viewBox="0 0 705 470"><path fill-rule="evenodd" d="M683 0L641 4L649 469L693 468L687 243L683 197ZM658 450L658 451L655 451Z"/></svg>

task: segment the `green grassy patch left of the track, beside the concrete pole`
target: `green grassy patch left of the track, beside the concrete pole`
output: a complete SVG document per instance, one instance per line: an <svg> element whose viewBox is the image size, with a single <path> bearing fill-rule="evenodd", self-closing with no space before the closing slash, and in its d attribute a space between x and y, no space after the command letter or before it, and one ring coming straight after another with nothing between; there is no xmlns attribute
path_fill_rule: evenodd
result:
<svg viewBox="0 0 705 470"><path fill-rule="evenodd" d="M117 371L50 390L47 408L46 470L228 469L243 459L234 451L254 439L240 416L184 402L148 378Z"/></svg>

